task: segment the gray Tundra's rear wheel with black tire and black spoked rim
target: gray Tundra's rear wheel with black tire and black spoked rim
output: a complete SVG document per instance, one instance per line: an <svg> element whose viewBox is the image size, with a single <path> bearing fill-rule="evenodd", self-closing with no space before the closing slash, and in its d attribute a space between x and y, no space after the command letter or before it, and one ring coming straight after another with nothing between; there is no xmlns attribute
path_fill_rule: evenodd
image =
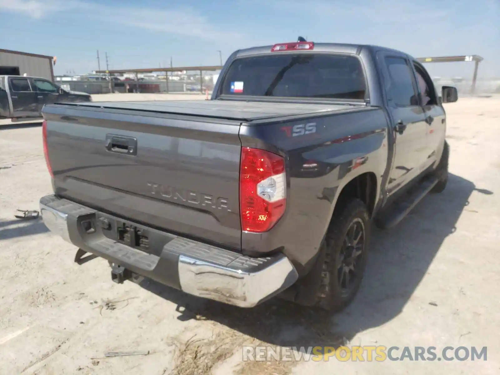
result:
<svg viewBox="0 0 500 375"><path fill-rule="evenodd" d="M321 249L324 251L324 258L316 301L319 307L338 312L356 295L366 265L370 223L366 205L359 199L352 199L339 212L333 214L321 244L324 246ZM351 245L348 245L352 230L356 236L356 230L361 234L356 243L351 241ZM355 255L358 251L358 255Z"/></svg>

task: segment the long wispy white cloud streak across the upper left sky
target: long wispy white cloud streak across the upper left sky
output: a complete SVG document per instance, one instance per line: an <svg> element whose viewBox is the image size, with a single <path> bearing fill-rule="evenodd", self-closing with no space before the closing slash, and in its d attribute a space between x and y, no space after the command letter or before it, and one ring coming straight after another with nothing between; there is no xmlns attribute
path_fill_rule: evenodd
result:
<svg viewBox="0 0 500 375"><path fill-rule="evenodd" d="M82 18L94 18L151 31L232 41L240 37L238 33L219 30L206 17L191 8L116 7L78 0L0 0L0 11L19 13L37 19L68 10L78 10Z"/></svg>

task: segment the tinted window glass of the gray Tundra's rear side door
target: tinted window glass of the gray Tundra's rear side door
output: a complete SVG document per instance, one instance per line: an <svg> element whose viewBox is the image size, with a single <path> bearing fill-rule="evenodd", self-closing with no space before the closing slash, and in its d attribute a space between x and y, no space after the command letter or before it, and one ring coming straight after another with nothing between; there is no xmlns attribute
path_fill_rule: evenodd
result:
<svg viewBox="0 0 500 375"><path fill-rule="evenodd" d="M388 94L396 106L418 105L418 96L413 84L413 73L401 57L385 57L389 73Z"/></svg>

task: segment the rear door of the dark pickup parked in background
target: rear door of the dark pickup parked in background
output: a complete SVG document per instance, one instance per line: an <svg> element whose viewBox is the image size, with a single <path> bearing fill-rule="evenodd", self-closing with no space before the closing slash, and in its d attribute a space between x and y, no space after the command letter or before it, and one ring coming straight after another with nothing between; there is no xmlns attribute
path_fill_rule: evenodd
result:
<svg viewBox="0 0 500 375"><path fill-rule="evenodd" d="M26 77L8 77L13 117L36 117L39 115L38 98Z"/></svg>

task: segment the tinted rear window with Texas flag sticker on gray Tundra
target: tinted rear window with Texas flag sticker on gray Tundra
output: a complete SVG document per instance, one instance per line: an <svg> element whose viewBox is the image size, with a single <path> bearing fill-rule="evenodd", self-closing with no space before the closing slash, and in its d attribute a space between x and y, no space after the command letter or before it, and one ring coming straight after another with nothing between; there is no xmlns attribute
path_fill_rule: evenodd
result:
<svg viewBox="0 0 500 375"><path fill-rule="evenodd" d="M331 54L275 54L234 60L221 94L364 99L359 59Z"/></svg>

